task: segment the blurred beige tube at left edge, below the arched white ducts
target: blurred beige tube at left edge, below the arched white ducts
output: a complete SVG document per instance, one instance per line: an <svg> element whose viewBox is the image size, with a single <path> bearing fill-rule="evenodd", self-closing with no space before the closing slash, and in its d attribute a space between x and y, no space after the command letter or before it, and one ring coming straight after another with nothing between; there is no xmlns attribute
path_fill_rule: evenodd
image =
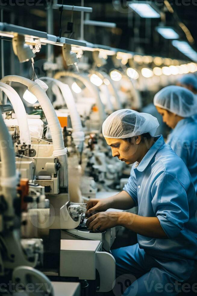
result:
<svg viewBox="0 0 197 296"><path fill-rule="evenodd" d="M14 217L13 200L16 197L16 186L18 178L16 175L14 147L8 129L0 112L0 156L1 156L1 178L0 185L2 194L8 203L8 208L5 211L7 217ZM9 224L8 219L8 224ZM10 220L11 223L11 220Z"/></svg>

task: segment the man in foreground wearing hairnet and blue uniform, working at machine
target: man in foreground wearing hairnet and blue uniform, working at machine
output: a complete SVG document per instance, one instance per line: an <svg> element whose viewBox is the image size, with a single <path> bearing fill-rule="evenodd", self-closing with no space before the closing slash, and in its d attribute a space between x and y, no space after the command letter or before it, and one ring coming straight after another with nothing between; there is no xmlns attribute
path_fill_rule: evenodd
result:
<svg viewBox="0 0 197 296"><path fill-rule="evenodd" d="M183 160L162 136L154 137L157 127L155 117L130 109L118 110L104 121L102 133L112 156L135 163L120 193L87 204L87 217L92 215L86 222L89 230L121 225L137 233L137 244L111 251L116 259L115 288L118 283L126 288L127 283L127 296L178 294L197 259L194 185ZM137 205L138 214L106 211Z"/></svg>

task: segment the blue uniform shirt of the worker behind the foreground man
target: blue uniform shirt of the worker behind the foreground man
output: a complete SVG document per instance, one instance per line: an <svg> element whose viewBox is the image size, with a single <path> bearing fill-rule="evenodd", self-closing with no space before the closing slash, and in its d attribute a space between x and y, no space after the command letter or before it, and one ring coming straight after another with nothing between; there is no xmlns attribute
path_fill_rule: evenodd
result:
<svg viewBox="0 0 197 296"><path fill-rule="evenodd" d="M170 133L167 144L185 162L197 194L197 118L187 117L180 120Z"/></svg>

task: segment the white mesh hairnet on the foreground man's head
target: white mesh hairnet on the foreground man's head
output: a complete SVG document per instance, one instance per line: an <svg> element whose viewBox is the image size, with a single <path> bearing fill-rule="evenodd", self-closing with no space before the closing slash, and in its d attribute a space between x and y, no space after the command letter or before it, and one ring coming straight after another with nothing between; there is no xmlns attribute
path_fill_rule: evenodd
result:
<svg viewBox="0 0 197 296"><path fill-rule="evenodd" d="M125 139L149 133L152 137L159 126L157 118L131 109L113 112L105 119L102 133L106 138Z"/></svg>

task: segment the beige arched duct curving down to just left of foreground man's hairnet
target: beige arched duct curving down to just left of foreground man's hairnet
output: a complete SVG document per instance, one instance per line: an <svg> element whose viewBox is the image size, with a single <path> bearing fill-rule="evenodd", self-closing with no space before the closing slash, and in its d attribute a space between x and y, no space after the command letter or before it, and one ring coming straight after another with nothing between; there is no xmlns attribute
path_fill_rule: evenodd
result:
<svg viewBox="0 0 197 296"><path fill-rule="evenodd" d="M103 105L101 98L99 96L98 88L94 84L92 84L92 82L90 82L90 80L88 78L84 77L82 74L61 71L61 72L57 72L54 76L55 79L60 79L61 77L73 77L75 79L78 79L81 82L83 82L83 84L89 89L89 91L92 93L92 96L95 97L96 105L99 109L100 124L102 126L103 122L106 119L106 114L105 114L105 110L104 110L104 105Z"/></svg>

